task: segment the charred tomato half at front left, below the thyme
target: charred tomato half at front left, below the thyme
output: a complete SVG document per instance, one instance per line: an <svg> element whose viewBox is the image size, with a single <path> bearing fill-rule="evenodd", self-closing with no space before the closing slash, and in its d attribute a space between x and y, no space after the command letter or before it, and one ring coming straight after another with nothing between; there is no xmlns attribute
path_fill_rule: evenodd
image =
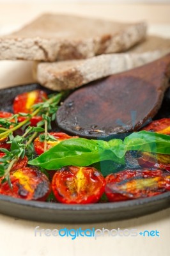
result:
<svg viewBox="0 0 170 256"><path fill-rule="evenodd" d="M45 201L50 194L47 176L35 168L21 168L10 173L12 188L0 179L0 194L25 200Z"/></svg>

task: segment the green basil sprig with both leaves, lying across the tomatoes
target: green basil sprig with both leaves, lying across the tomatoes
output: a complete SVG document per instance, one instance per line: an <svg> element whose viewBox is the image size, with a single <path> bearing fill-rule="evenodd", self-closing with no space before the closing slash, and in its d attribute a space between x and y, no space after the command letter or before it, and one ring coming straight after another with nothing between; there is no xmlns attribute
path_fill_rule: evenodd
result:
<svg viewBox="0 0 170 256"><path fill-rule="evenodd" d="M29 164L47 170L57 170L63 166L89 166L102 161L125 163L128 150L141 150L158 154L170 154L170 136L155 132L134 132L122 140L110 141L74 138L61 141Z"/></svg>

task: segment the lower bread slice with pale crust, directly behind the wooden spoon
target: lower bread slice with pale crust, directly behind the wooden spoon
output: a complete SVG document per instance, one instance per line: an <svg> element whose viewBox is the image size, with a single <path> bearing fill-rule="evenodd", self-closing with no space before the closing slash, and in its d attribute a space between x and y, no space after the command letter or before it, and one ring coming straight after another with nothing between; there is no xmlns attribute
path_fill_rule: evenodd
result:
<svg viewBox="0 0 170 256"><path fill-rule="evenodd" d="M34 77L51 90L77 88L111 74L139 67L170 52L170 40L150 36L130 53L102 54L87 60L35 63Z"/></svg>

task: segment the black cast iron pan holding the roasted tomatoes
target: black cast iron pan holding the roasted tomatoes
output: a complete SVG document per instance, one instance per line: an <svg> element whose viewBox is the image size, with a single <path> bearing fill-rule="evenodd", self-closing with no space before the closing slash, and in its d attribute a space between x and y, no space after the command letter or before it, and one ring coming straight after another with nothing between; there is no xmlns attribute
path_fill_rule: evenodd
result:
<svg viewBox="0 0 170 256"><path fill-rule="evenodd" d="M0 90L0 109L12 111L14 97L22 92L42 89L39 84L27 84ZM49 90L45 90L50 93ZM162 108L156 118L170 117L170 90L167 90ZM95 223L123 220L150 214L170 206L170 192L151 198L128 200L117 203L88 205L65 205L59 203L35 202L0 195L0 212L15 218L52 223Z"/></svg>

